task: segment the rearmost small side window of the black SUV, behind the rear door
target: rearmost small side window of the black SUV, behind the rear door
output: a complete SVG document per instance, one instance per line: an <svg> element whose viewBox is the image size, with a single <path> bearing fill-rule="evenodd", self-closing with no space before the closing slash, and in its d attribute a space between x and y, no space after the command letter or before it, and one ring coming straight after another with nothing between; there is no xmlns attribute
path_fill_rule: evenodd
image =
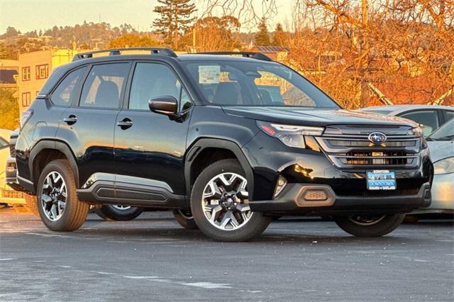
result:
<svg viewBox="0 0 454 302"><path fill-rule="evenodd" d="M77 84L79 84L86 69L87 67L82 67L67 74L65 79L63 79L52 92L50 101L58 106L69 107L71 105L72 97L74 96L74 89L77 87Z"/></svg>

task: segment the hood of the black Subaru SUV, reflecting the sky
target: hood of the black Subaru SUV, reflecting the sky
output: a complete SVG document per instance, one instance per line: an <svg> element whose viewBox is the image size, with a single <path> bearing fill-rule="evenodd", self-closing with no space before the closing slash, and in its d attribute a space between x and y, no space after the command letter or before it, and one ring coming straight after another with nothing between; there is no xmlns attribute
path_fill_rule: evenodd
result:
<svg viewBox="0 0 454 302"><path fill-rule="evenodd" d="M343 109L297 108L297 107L255 107L223 106L223 111L231 116L253 118L272 123L294 125L409 125L417 124L397 116Z"/></svg>

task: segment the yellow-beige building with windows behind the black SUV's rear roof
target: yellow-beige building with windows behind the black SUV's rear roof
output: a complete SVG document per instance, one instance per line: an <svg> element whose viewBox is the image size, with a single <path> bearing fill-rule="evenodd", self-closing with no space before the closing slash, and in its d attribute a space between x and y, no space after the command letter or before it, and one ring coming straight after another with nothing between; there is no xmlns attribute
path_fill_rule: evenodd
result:
<svg viewBox="0 0 454 302"><path fill-rule="evenodd" d="M87 50L40 50L19 54L18 102L22 113L38 95L55 67L72 61L78 52Z"/></svg>

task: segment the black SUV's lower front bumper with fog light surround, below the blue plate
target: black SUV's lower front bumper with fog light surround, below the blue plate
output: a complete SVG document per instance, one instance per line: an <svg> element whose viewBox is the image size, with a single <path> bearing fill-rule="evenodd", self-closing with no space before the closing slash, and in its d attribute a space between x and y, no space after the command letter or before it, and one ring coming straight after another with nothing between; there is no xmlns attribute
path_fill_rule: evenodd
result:
<svg viewBox="0 0 454 302"><path fill-rule="evenodd" d="M326 216L409 213L430 204L429 183L423 184L417 194L367 197L338 196L326 184L288 184L275 199L249 202L252 211Z"/></svg>

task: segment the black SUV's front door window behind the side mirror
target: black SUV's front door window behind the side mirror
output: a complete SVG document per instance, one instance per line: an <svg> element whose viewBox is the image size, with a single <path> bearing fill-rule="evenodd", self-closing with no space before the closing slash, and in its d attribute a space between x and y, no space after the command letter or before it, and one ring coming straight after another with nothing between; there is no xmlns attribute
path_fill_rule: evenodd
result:
<svg viewBox="0 0 454 302"><path fill-rule="evenodd" d="M129 108L149 110L150 99L173 96L178 100L180 91L184 88L169 67L157 63L137 63L129 94Z"/></svg>

